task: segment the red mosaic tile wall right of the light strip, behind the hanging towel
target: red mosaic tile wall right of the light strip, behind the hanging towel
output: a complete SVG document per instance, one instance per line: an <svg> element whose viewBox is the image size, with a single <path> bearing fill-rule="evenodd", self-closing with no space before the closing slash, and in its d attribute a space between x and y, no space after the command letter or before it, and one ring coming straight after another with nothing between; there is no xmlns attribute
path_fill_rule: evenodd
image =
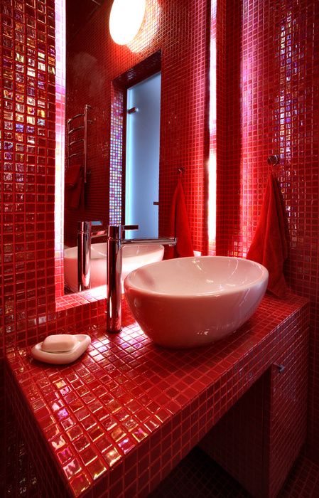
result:
<svg viewBox="0 0 319 498"><path fill-rule="evenodd" d="M311 301L308 451L319 461L319 3L229 1L225 31L227 124L217 120L217 130L227 147L217 191L217 253L247 254L266 159L280 154L275 171L291 237L286 275Z"/></svg>

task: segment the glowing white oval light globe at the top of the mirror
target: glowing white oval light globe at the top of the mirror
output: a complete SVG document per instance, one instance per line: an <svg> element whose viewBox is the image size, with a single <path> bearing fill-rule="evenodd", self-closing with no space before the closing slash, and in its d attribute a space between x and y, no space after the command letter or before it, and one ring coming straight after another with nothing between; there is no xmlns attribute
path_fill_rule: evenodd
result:
<svg viewBox="0 0 319 498"><path fill-rule="evenodd" d="M115 43L132 41L144 19L146 0L114 0L109 16L109 32Z"/></svg>

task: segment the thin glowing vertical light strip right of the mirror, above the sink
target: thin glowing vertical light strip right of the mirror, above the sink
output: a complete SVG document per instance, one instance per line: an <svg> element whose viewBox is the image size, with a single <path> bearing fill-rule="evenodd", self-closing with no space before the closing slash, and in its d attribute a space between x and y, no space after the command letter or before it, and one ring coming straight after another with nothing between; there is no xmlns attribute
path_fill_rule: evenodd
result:
<svg viewBox="0 0 319 498"><path fill-rule="evenodd" d="M210 158L208 163L208 252L215 254L216 248L216 15L217 0L211 2L210 31Z"/></svg>

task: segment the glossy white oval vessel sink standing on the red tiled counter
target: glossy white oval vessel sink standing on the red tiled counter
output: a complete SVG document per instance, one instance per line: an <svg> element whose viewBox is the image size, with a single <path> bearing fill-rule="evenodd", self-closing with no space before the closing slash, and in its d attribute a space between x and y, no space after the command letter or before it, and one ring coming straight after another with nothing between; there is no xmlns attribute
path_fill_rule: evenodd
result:
<svg viewBox="0 0 319 498"><path fill-rule="evenodd" d="M141 329L156 344L188 348L217 341L252 316L268 283L254 261L222 256L153 263L124 280Z"/></svg>

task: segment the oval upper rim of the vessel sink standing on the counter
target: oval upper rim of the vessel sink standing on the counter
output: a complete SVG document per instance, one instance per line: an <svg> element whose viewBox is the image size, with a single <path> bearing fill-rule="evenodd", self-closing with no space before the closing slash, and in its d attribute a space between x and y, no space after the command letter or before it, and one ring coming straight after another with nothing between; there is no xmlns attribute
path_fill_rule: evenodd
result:
<svg viewBox="0 0 319 498"><path fill-rule="evenodd" d="M172 261L176 261L178 262L179 260L201 260L201 259L224 259L224 260L237 260L237 261L245 261L245 262L249 262L249 264L251 264L252 266L258 268L259 270L261 270L261 273L259 275L259 277L257 277L255 280L251 280L250 282L248 283L244 283L243 285L237 285L234 289L232 288L227 288L227 289L216 289L216 290L208 290L208 291L205 291L205 292L184 292L184 293L180 293L180 292L161 292L159 290L152 290L151 288L146 288L146 287L141 287L140 285L136 285L134 284L134 282L132 282L132 279L134 279L134 275L136 274L136 272L139 272L139 271L144 271L146 272L148 269L150 269L151 267L153 266L157 266L159 264L161 265L166 265L166 264L171 264ZM205 297L209 298L209 297L212 297L212 296L215 296L215 297L219 297L219 296L223 296L223 295L231 295L231 294L234 294L236 292L242 292L244 290L249 290L251 289L252 287L254 287L255 285L259 285L261 284L261 282L264 282L264 280L266 280L267 278L269 277L269 272L268 270L266 269L266 267L264 267L264 265L261 265L260 263L256 263L256 261L253 261L253 260L247 260L246 258L238 258L238 257L235 257L235 256L210 256L210 255L207 255L207 256L188 256L188 257L185 257L185 258L175 258L173 260L162 260L162 261L158 261L156 263L150 263L148 265L145 265L144 267L139 267L139 268L136 268L136 270L133 270L132 272L129 273L129 275L126 276L125 280L124 280L124 289L126 290L126 287L128 288L131 288L131 289L134 289L134 292L139 292L141 294L144 294L144 295L152 295L152 296L158 296L158 297L166 297L166 299L176 299L178 297L178 299L189 299L190 297L200 297L202 299L205 299Z"/></svg>

